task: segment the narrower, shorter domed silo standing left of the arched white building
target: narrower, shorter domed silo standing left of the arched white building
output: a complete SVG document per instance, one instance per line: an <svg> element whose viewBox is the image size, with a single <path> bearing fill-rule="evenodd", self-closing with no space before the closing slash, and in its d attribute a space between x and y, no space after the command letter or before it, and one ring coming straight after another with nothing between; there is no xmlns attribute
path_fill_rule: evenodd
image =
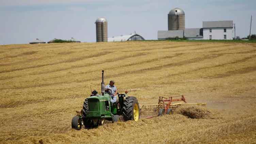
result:
<svg viewBox="0 0 256 144"><path fill-rule="evenodd" d="M96 24L96 41L108 42L108 21L105 18L98 18Z"/></svg>

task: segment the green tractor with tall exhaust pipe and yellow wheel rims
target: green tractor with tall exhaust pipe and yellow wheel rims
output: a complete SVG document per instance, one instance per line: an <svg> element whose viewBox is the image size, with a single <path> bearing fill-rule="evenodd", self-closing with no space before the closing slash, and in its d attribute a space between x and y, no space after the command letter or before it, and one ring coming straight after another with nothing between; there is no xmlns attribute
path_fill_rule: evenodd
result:
<svg viewBox="0 0 256 144"><path fill-rule="evenodd" d="M92 93L83 102L83 109L77 111L73 117L71 126L73 129L80 130L94 128L103 125L104 121L112 123L121 121L138 121L140 118L140 107L136 97L125 94L118 94L118 100L111 102L111 90L105 92L104 70L102 70L101 94Z"/></svg>

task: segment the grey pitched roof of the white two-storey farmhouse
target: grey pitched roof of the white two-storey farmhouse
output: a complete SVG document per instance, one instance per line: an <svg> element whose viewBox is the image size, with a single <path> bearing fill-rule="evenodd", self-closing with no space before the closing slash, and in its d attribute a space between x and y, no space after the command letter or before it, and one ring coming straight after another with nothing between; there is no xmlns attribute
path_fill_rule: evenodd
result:
<svg viewBox="0 0 256 144"><path fill-rule="evenodd" d="M233 28L233 20L203 21L203 28Z"/></svg>

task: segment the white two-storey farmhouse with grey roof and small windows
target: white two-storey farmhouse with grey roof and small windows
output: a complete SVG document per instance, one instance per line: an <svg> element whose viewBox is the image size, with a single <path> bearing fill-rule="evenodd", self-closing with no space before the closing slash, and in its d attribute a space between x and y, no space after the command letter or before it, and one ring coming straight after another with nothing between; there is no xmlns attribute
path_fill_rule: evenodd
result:
<svg viewBox="0 0 256 144"><path fill-rule="evenodd" d="M233 20L203 21L204 39L233 39Z"/></svg>

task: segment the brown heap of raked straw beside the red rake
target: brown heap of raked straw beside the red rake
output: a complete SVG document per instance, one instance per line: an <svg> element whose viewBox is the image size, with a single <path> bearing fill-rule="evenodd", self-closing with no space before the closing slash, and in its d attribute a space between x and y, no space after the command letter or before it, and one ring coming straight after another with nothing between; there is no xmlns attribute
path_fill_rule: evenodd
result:
<svg viewBox="0 0 256 144"><path fill-rule="evenodd" d="M200 106L182 106L176 109L176 113L196 119L208 118L212 114L209 110Z"/></svg>

